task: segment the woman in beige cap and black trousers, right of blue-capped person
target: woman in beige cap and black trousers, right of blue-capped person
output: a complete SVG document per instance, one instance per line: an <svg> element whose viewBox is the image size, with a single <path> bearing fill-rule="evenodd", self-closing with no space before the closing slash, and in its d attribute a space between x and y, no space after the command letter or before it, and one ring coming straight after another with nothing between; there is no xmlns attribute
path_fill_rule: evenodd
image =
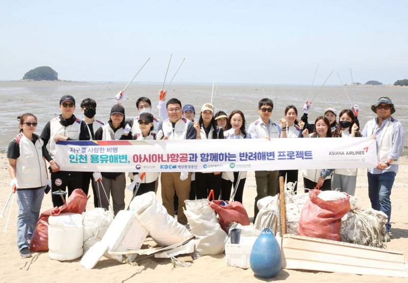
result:
<svg viewBox="0 0 408 283"><path fill-rule="evenodd" d="M205 103L201 107L200 119L194 122L197 139L224 139L224 132L214 119L214 106ZM214 190L214 198L218 200L221 192L221 172L196 172L195 194L197 200L207 199L210 191Z"/></svg>

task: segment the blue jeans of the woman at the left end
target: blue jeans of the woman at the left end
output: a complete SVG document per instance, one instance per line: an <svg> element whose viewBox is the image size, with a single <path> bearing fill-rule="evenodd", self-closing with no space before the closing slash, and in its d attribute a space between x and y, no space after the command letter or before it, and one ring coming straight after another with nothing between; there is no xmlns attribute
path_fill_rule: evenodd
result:
<svg viewBox="0 0 408 283"><path fill-rule="evenodd" d="M18 250L30 248L28 240L33 236L35 225L40 216L45 187L39 189L17 190L17 245Z"/></svg>

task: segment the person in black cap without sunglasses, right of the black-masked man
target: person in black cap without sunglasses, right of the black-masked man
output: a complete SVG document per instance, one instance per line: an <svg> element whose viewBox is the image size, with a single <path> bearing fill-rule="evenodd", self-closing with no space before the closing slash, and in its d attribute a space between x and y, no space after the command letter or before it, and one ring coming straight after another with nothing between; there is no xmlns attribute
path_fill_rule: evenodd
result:
<svg viewBox="0 0 408 283"><path fill-rule="evenodd" d="M122 105L114 105L111 109L111 117L108 124L99 128L95 132L95 140L123 140L132 139L131 127L125 125L124 107ZM112 195L113 213L116 215L119 210L123 210L124 190L126 186L126 178L124 173L117 172L94 172L93 178L95 182L103 184L95 184L98 191L99 207L109 209L108 197ZM105 189L105 192L102 191ZM99 198L100 196L100 198ZM108 197L107 197L108 196Z"/></svg>

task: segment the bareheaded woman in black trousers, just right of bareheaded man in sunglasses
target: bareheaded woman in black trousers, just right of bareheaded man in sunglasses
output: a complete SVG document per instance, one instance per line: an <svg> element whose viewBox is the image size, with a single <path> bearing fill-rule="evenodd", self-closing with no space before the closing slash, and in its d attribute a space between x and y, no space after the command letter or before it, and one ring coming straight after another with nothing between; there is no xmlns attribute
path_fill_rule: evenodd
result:
<svg viewBox="0 0 408 283"><path fill-rule="evenodd" d="M294 105L289 105L285 108L285 118L279 120L282 126L281 137L283 138L297 138L301 134L302 130L300 129L297 121L297 108ZM279 177L284 177L284 182L295 183L294 192L297 191L297 177L299 171L297 169L293 170L279 170ZM279 191L279 184L277 185L276 192Z"/></svg>

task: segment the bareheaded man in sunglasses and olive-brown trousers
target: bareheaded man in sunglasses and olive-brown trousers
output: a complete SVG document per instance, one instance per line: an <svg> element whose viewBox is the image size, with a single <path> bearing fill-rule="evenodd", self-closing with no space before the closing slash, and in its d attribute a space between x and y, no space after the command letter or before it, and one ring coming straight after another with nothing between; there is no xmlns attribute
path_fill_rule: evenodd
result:
<svg viewBox="0 0 408 283"><path fill-rule="evenodd" d="M281 136L282 127L270 119L273 110L273 102L269 98L261 99L258 103L260 118L249 125L249 138L278 138ZM286 130L286 129L284 129ZM257 196L255 197L253 221L257 218L259 209L257 203L263 197L275 195L279 171L255 171L257 183Z"/></svg>

